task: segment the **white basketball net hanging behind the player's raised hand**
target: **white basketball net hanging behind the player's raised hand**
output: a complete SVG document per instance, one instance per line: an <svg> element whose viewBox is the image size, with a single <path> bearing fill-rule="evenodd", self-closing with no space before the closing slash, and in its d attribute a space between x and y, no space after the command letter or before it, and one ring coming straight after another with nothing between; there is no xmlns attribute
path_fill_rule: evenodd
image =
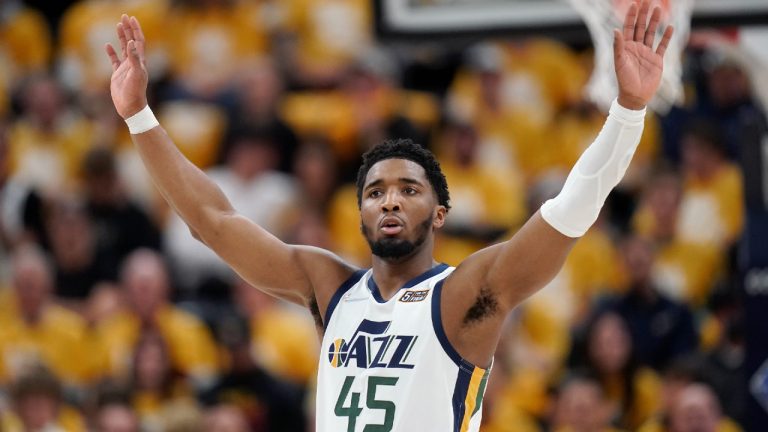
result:
<svg viewBox="0 0 768 432"><path fill-rule="evenodd" d="M616 74L613 68L613 29L622 30L624 16L629 6L639 0L568 0L584 21L595 45L595 69L587 84L587 96L601 109L608 111L611 101L618 93ZM661 8L661 23L656 30L658 44L668 25L675 27L675 33L664 55L664 74L656 96L649 107L661 114L672 105L682 103L682 56L691 27L693 0L652 0L653 7ZM649 13L650 16L650 13ZM654 48L656 45L654 45Z"/></svg>

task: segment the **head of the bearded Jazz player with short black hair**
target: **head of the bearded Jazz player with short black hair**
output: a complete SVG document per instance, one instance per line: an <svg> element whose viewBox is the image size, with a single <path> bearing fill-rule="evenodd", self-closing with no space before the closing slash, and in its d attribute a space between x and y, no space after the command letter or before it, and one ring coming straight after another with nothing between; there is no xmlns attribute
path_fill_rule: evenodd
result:
<svg viewBox="0 0 768 432"><path fill-rule="evenodd" d="M393 260L414 254L451 208L437 159L409 139L385 141L363 155L357 204L371 252Z"/></svg>

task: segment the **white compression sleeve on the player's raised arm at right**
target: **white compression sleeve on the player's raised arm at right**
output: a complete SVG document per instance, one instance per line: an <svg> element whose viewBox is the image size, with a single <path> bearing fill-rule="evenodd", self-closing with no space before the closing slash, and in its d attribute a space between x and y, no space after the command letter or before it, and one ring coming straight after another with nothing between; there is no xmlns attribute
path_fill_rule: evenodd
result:
<svg viewBox="0 0 768 432"><path fill-rule="evenodd" d="M581 237L597 220L608 194L624 177L643 133L645 109L614 99L608 119L584 151L560 193L541 206L541 216L568 237Z"/></svg>

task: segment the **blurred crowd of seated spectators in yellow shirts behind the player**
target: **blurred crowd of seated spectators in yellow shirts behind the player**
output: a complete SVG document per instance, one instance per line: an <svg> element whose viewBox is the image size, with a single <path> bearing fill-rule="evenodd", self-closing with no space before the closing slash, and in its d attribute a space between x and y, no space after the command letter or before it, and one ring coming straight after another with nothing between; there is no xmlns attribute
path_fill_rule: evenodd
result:
<svg viewBox="0 0 768 432"><path fill-rule="evenodd" d="M180 150L279 238L360 266L372 145L438 155L436 258L455 265L557 194L605 118L589 48L385 47L368 0L55 3L0 0L2 431L313 430L315 323L193 239L112 107L122 13ZM683 65L684 105L649 113L597 224L510 316L483 431L741 430L742 167L768 128L730 49L692 44Z"/></svg>

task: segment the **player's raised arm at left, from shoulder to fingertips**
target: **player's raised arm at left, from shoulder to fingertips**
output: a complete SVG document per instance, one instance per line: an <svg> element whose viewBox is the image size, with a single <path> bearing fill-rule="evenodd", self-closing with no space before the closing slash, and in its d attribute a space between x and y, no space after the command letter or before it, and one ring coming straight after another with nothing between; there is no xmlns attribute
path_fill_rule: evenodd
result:
<svg viewBox="0 0 768 432"><path fill-rule="evenodd" d="M144 36L136 18L126 15L117 33L122 55L106 47L113 68L110 91L118 114L128 119L147 106ZM354 269L328 251L287 245L237 214L218 186L181 154L151 112L143 119L146 127L131 131L133 142L160 193L195 237L255 287L299 304L317 301L324 313L336 288ZM143 129L148 130L134 133Z"/></svg>

